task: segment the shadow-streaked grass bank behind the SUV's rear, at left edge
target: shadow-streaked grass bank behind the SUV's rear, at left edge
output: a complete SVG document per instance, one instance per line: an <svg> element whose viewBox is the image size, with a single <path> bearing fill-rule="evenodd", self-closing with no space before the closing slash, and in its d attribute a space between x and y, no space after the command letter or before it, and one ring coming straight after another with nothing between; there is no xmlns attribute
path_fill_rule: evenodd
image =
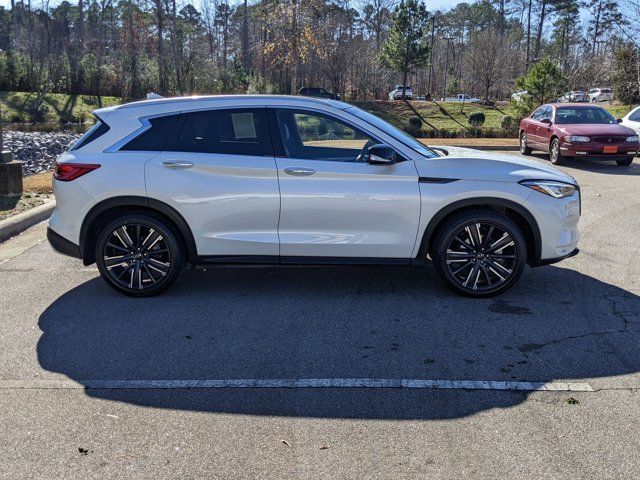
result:
<svg viewBox="0 0 640 480"><path fill-rule="evenodd" d="M50 93L44 96L38 108L35 93L0 92L2 118L6 123L84 123L92 121L93 110L117 105L120 102L119 97Z"/></svg>

